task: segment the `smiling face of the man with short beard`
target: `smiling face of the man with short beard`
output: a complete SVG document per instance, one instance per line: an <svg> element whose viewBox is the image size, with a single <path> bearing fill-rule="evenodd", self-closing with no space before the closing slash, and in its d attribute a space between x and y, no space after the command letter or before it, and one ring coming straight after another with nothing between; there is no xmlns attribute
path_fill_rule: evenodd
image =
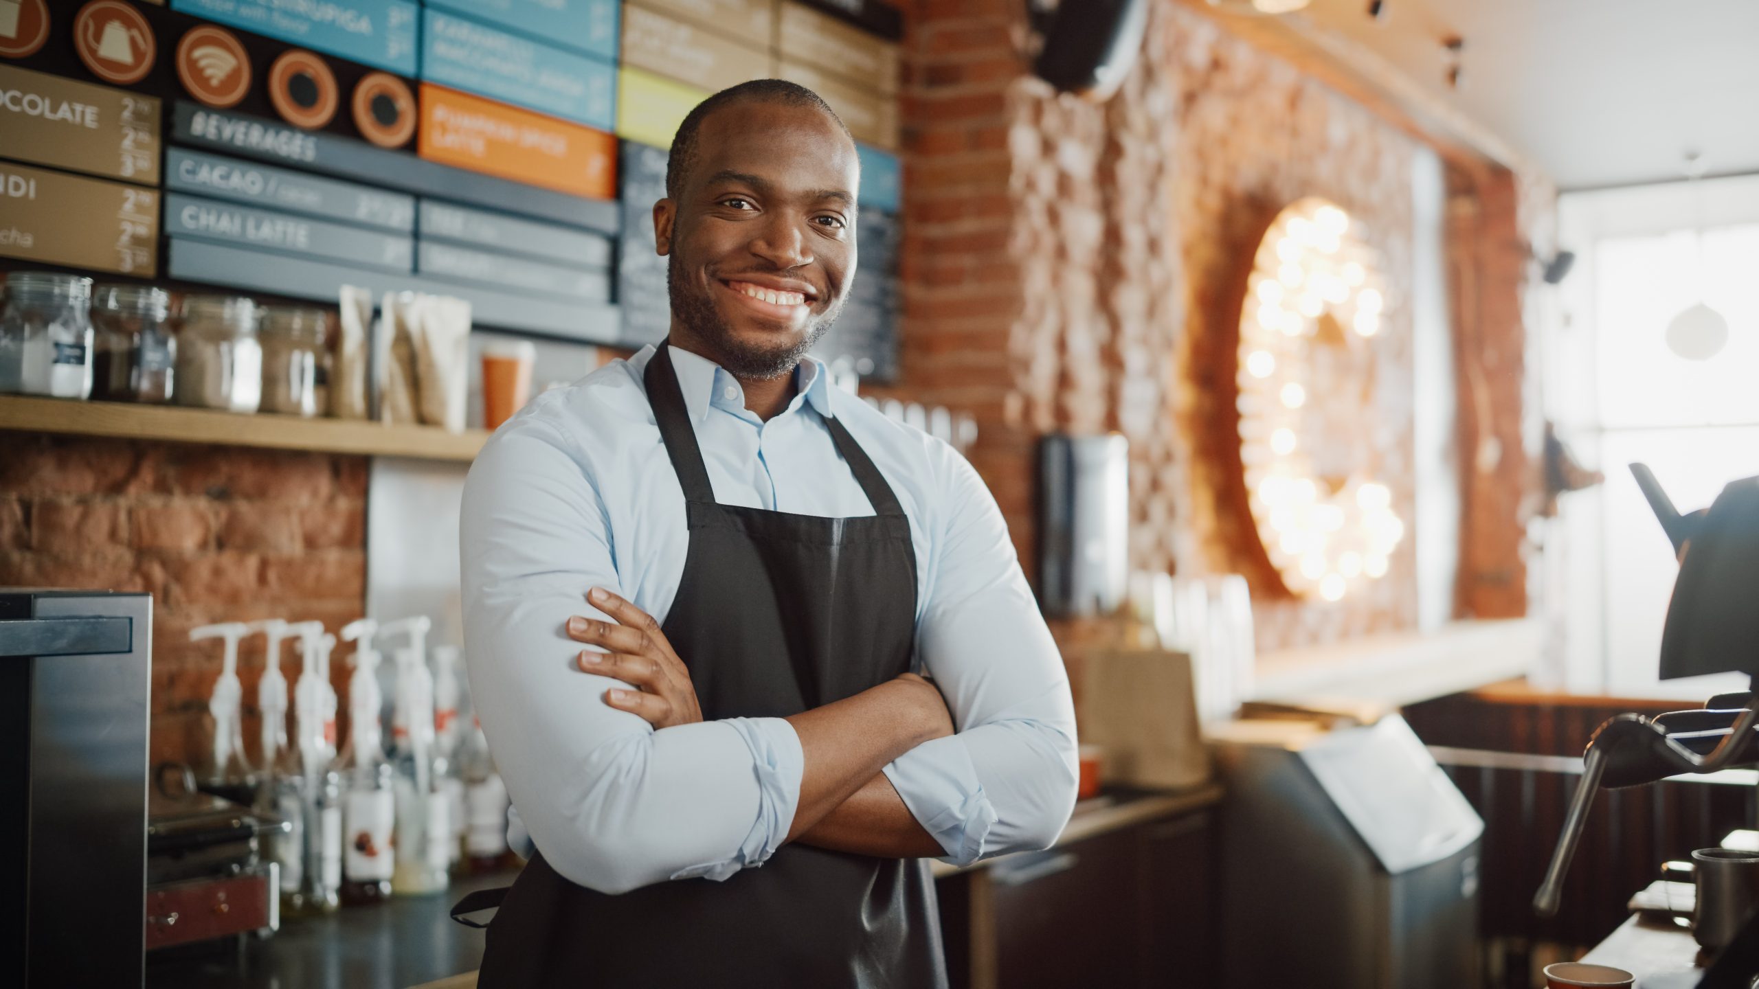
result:
<svg viewBox="0 0 1759 989"><path fill-rule="evenodd" d="M672 340L742 378L774 378L830 329L855 276L855 144L823 113L721 107L679 197L654 204Z"/></svg>

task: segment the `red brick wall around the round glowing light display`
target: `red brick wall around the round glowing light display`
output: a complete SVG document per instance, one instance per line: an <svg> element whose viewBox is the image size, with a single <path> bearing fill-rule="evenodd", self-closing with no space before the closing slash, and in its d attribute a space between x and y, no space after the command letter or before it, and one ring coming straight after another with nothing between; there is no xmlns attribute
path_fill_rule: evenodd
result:
<svg viewBox="0 0 1759 989"><path fill-rule="evenodd" d="M1289 600L1254 572L1251 521L1219 465L1237 442L1228 322L1240 264L1277 209L1325 195L1365 220L1388 282L1409 285L1414 139L1177 4L1150 7L1143 58L1103 106L1031 77L1024 39L1011 0L918 0L908 18L904 375L892 394L978 417L971 459L1029 568L1036 436L1117 429L1131 443L1133 567L1245 572L1263 648L1411 626L1412 540L1388 577L1339 605ZM1497 192L1463 195L1502 225L1455 236L1483 262L1488 306L1516 304L1514 319L1499 311L1462 340L1474 371L1479 357L1493 364L1492 429L1514 429L1469 491L1472 574L1499 590L1462 593L1462 612L1486 616L1525 595L1525 271L1504 250L1525 241ZM1397 290L1391 301L1376 341L1376 456L1409 521L1411 315ZM1105 623L1057 632L1066 644L1110 635Z"/></svg>

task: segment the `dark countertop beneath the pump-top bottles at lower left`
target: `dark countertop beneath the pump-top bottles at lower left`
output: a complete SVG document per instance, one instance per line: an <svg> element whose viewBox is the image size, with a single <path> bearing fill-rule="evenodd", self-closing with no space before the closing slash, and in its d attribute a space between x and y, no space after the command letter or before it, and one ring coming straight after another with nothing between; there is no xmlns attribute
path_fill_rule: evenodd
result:
<svg viewBox="0 0 1759 989"><path fill-rule="evenodd" d="M343 906L324 917L283 919L273 938L216 943L204 954L172 949L146 961L148 989L405 989L482 964L484 931L447 912L466 892L508 885L517 873L466 876L434 896Z"/></svg>

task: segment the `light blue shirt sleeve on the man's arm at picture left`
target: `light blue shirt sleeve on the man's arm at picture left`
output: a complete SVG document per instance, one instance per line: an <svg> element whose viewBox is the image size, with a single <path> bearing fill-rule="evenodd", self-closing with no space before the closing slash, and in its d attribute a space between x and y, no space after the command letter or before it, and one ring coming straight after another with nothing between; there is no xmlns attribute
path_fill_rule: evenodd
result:
<svg viewBox="0 0 1759 989"><path fill-rule="evenodd" d="M591 465L524 417L477 458L461 512L471 697L519 822L563 878L617 894L762 866L786 839L804 755L781 718L654 730L580 672L570 616L621 593ZM661 618L661 616L656 616Z"/></svg>

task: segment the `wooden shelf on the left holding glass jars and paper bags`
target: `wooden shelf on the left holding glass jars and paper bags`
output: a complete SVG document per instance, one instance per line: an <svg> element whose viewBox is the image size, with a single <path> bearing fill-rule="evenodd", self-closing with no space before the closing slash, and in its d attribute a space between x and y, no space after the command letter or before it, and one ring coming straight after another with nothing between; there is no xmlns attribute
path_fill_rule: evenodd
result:
<svg viewBox="0 0 1759 989"><path fill-rule="evenodd" d="M434 426L383 426L271 414L241 415L206 408L67 401L12 394L0 396L0 429L445 461L475 459L477 451L489 438L484 429L447 433Z"/></svg>

